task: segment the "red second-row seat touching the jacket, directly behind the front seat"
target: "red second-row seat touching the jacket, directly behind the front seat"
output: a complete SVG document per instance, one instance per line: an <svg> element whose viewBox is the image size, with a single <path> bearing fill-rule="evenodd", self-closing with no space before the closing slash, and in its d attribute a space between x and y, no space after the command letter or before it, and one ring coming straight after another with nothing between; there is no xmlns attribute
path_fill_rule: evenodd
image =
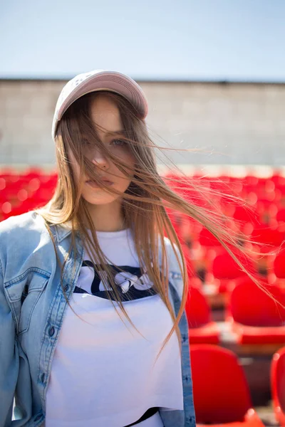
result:
<svg viewBox="0 0 285 427"><path fill-rule="evenodd" d="M197 288L190 288L186 302L190 344L218 344L219 330L212 322L206 298Z"/></svg>

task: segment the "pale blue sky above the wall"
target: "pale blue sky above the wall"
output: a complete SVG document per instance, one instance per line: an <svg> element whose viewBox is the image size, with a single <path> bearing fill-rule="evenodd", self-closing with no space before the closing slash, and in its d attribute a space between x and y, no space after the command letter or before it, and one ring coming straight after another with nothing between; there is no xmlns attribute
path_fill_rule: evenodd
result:
<svg viewBox="0 0 285 427"><path fill-rule="evenodd" d="M285 0L0 0L0 78L285 82Z"/></svg>

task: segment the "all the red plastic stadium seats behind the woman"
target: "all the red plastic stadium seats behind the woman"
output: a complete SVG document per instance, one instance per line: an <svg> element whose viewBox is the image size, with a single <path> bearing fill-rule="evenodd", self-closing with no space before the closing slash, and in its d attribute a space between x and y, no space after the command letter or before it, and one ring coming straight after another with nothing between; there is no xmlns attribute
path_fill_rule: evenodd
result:
<svg viewBox="0 0 285 427"><path fill-rule="evenodd" d="M285 251L280 250L285 240L284 176L272 174L263 179L247 175L241 179L195 174L187 182L179 179L176 183L179 188L175 191L193 198L192 179L205 189L206 196L211 194L207 189L224 193L211 197L224 214L234 219L229 227L236 226L257 244L259 255L247 261L247 268L254 277L260 278L271 296L285 305ZM46 174L36 168L21 173L13 169L0 171L0 221L46 204L56 182L56 172ZM230 194L247 201L247 206L236 204ZM195 203L207 206L209 201L196 196ZM208 290L212 295L226 295L224 323L229 325L240 345L274 343L282 347L285 310L244 275L206 228L178 212L169 211L169 214L182 242L190 277L186 313L198 426L209 423L219 427L263 426L252 406L249 386L237 356L222 348L221 330L212 320ZM276 421L285 427L285 347L274 354L271 362L271 395Z"/></svg>

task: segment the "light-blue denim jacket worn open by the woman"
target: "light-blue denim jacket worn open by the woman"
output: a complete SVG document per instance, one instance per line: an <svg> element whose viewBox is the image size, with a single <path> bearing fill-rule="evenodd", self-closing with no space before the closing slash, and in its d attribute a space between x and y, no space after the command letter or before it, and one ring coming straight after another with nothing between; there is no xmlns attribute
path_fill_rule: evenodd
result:
<svg viewBox="0 0 285 427"><path fill-rule="evenodd" d="M71 230L51 226L61 262L71 244ZM83 260L83 244L71 253L63 271L70 296ZM168 241L168 250L171 248ZM170 301L180 308L182 280L170 251ZM73 268L75 267L75 270ZM43 218L36 212L0 223L0 427L44 426L51 362L67 303L60 283L60 265ZM184 410L160 411L165 427L195 427L188 325L180 320ZM167 375L167 372L165 372ZM15 398L14 416L13 403ZM12 421L13 418L13 421Z"/></svg>

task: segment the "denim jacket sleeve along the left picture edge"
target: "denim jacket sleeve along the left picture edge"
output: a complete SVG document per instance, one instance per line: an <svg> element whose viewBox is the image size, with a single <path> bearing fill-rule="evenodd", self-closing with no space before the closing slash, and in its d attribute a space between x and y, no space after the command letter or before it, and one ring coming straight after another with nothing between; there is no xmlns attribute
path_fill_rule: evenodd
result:
<svg viewBox="0 0 285 427"><path fill-rule="evenodd" d="M15 325L4 293L3 269L0 261L0 427L12 425L14 392L19 374L19 352L15 341Z"/></svg>

